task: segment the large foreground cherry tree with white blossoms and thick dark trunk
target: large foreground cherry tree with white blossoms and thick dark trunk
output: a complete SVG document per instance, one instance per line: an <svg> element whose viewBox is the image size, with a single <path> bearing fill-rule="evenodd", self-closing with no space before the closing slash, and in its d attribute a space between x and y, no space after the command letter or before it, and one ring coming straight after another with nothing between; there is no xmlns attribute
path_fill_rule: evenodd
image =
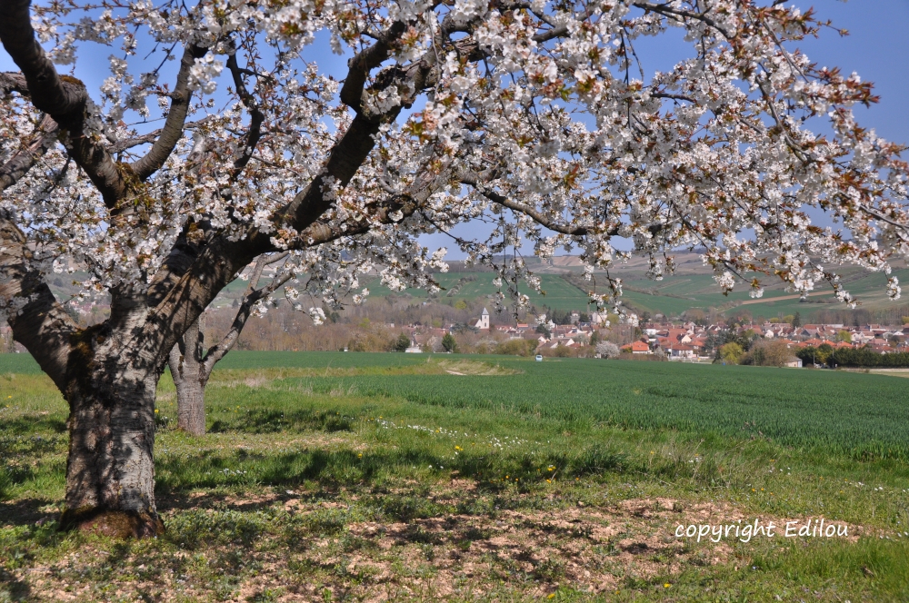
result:
<svg viewBox="0 0 909 603"><path fill-rule="evenodd" d="M696 246L726 291L764 273L850 302L836 265L889 272L909 253L902 147L856 124L871 86L802 54L827 24L782 2L2 0L0 14L18 67L0 75L0 296L70 406L67 527L163 529L156 383L266 253L287 252L283 292L317 321L362 296L367 271L434 288L433 232L492 263L499 304L517 305L520 280L538 286L514 252L527 244L580 249L604 305L619 303L617 237L654 278ZM645 74L635 44L670 30L690 53ZM90 91L99 47L109 74ZM320 71L331 52L349 57L343 79ZM462 222L483 234L456 235ZM110 317L80 328L53 272L87 274Z"/></svg>

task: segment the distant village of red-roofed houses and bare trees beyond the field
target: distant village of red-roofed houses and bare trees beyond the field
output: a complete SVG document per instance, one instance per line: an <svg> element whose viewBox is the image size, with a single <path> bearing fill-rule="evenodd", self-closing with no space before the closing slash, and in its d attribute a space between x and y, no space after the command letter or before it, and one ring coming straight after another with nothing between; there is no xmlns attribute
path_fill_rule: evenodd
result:
<svg viewBox="0 0 909 603"><path fill-rule="evenodd" d="M302 312L289 306L271 311L265 319L251 321L238 350L335 350L406 351L410 353L461 351L508 355L563 357L624 357L634 360L727 362L804 367L831 365L855 351L862 359L844 366L909 367L909 324L808 323L787 316L779 321L725 319L714 322L670 320L662 314L644 314L639 324L621 322L604 312L528 312L525 321L514 321L507 312L491 316L479 304L472 313L464 304L448 306L397 301L398 308L383 302L375 308L358 308L356 314L338 317L314 327ZM105 304L88 301L71 304L77 321L92 324L109 312ZM426 310L423 310L426 309ZM432 309L432 310L429 310ZM391 314L382 316L383 311ZM448 316L439 314L445 311ZM428 315L427 315L428 312ZM207 312L203 326L212 340L225 332L235 310L225 306ZM373 319L371 320L370 316ZM447 320L445 320L447 318ZM384 319L384 320L383 320ZM405 319L405 322L397 320ZM907 321L907 319L903 319ZM8 325L0 325L0 351L25 351L13 341ZM818 353L814 353L817 351ZM900 353L902 352L902 353ZM869 359L875 354L878 360ZM896 355L894 355L896 354ZM888 356L882 359L882 356Z"/></svg>

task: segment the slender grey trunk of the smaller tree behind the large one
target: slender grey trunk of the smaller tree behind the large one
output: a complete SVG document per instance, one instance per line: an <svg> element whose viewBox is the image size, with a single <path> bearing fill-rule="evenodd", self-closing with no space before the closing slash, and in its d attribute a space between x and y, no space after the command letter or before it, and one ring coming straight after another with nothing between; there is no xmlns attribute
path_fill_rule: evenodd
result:
<svg viewBox="0 0 909 603"><path fill-rule="evenodd" d="M205 385L210 375L202 362L202 338L196 319L168 357L176 387L176 424L194 436L205 435Z"/></svg>

